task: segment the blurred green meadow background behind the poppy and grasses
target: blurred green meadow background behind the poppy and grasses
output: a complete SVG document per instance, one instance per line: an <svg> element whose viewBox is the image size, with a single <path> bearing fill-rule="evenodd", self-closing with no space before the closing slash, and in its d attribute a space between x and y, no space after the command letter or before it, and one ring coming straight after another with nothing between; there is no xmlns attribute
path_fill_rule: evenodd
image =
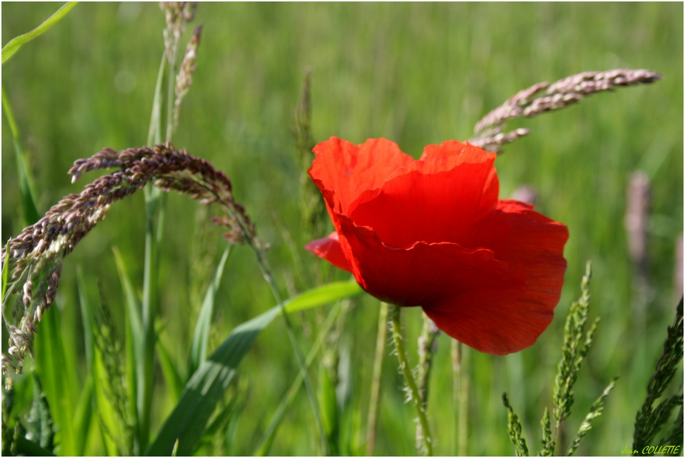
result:
<svg viewBox="0 0 685 458"><path fill-rule="evenodd" d="M57 8L56 3L3 2L3 45ZM530 127L532 133L497 159L501 197L523 184L537 190L536 209L569 227L568 270L556 318L534 346L507 357L469 353L469 454L513 453L503 390L536 453L540 416L551 407L564 317L580 293L586 259L592 259L590 319L600 316L601 322L580 372L564 440L568 444L593 400L620 375L603 416L577 453L617 455L632 444L635 414L680 298L674 265L683 224L682 3L201 3L198 22L204 29L195 82L173 142L232 179L236 199L256 222L262 240L271 243L269 259L284 292L306 287L293 274L284 240L288 231L296 246L308 241L301 230L300 170L290 130L306 66L313 72L317 141L339 136L361 143L385 137L414 157L426 144L466 140L479 118L538 81L610 68L662 74L650 86L599 94L562 112L508 125ZM3 88L29 156L40 212L95 178L91 174L70 183L66 170L77 158L103 147L145 143L163 28L156 3L82 3L3 65ZM7 240L21 231L22 223L12 136L4 116L1 165L1 236ZM636 271L623 224L627 181L636 170L645 171L652 183L644 300L634 286ZM142 288L143 203L139 193L114 204L108 218L64 262L57 303L66 345L82 374L76 266L84 269L93 298L97 279L102 282L123 335L123 294L111 247L119 247L129 275ZM197 296L224 246L221 231L208 225L198 208L184 196L169 196L160 279L163 338L179 363L188 354ZM303 249L300 255L312 262ZM335 272L333 278L349 275ZM237 247L219 293L214 344L271 306L271 292L253 254ZM640 307L645 307L644 318L636 316ZM315 316L308 312L294 320L305 348L316 335L311 329ZM341 354L351 361L345 377L362 427L377 316L374 298L358 299L340 340ZM404 318L414 362L420 317L412 309ZM253 453L295 378L297 362L286 340L282 320L276 320L243 361L240 378L248 387L247 404L228 453ZM413 455L414 410L404 403L396 358L387 353L376 454ZM153 433L173 407L161 375L157 379ZM682 385L682 370L673 385ZM451 387L449 338L441 335L429 404L439 455L454 450ZM363 440L362 435L357 442ZM311 455L318 453L316 444L302 390L271 453ZM93 447L97 454L97 444Z"/></svg>

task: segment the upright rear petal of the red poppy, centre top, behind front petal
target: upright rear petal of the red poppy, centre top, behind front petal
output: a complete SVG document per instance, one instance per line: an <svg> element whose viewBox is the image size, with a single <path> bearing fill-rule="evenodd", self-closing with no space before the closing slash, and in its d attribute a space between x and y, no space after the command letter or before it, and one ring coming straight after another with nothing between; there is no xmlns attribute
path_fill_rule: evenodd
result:
<svg viewBox="0 0 685 458"><path fill-rule="evenodd" d="M475 147L460 151L395 170L380 190L362 194L347 214L397 248L417 240L462 244L477 220L495 209L499 181L495 153Z"/></svg>

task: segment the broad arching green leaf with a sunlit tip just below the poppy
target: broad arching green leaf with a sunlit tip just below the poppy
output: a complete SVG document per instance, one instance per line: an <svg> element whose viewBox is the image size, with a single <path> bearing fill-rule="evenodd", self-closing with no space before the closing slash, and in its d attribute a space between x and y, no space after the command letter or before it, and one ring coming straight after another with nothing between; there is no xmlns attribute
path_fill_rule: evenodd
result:
<svg viewBox="0 0 685 458"><path fill-rule="evenodd" d="M284 303L284 307L288 312L304 310L361 292L362 288L354 282L329 283L290 298ZM179 455L192 452L216 403L233 379L242 357L249 351L260 332L280 313L281 305L277 305L242 323L203 361L186 383L178 404L164 422L155 442L147 448L146 455L169 456L176 440L179 440Z"/></svg>

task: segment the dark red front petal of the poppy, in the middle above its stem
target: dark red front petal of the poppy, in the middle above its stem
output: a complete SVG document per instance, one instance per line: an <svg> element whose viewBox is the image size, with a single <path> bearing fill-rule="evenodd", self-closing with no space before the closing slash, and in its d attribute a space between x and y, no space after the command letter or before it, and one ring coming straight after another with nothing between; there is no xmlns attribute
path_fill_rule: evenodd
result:
<svg viewBox="0 0 685 458"><path fill-rule="evenodd" d="M416 242L409 249L384 244L369 227L338 215L340 244L357 282L382 301L404 307L430 307L460 298L464 307L510 301L525 290L525 278L510 272L488 249L455 243ZM347 248L347 250L346 250Z"/></svg>

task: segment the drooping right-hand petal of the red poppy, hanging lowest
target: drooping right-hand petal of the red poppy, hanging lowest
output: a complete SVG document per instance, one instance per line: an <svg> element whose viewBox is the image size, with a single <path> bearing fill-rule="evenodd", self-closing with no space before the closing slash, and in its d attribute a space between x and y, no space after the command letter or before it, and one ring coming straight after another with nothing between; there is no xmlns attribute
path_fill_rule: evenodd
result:
<svg viewBox="0 0 685 458"><path fill-rule="evenodd" d="M534 344L554 315L559 302L566 260L566 226L534 212L532 205L499 201L497 210L473 228L469 246L488 246L495 258L525 276L523 294L510 301L460 307L449 298L424 307L438 328L486 353L506 355Z"/></svg>

